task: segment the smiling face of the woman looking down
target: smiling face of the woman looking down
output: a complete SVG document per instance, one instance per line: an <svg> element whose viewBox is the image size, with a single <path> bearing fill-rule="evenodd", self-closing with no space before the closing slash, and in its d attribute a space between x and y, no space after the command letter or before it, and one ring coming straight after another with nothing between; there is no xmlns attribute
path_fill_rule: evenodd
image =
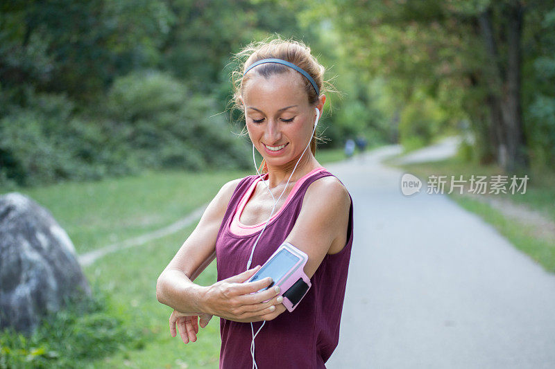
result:
<svg viewBox="0 0 555 369"><path fill-rule="evenodd" d="M311 140L316 111L300 78L294 71L267 80L253 73L244 86L248 136L268 165L298 160Z"/></svg>

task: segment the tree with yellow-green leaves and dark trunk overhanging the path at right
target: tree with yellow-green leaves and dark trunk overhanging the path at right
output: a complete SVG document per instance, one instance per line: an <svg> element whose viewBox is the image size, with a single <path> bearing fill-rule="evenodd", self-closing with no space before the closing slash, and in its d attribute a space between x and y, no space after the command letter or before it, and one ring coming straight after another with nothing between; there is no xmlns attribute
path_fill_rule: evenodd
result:
<svg viewBox="0 0 555 369"><path fill-rule="evenodd" d="M491 154L507 171L529 164L522 120L522 37L526 27L533 28L526 16L552 5L519 0L329 4L328 15L343 33L343 45L361 67L386 75L407 99L423 86L430 96L443 96L441 103L455 114L462 109L482 142L481 159ZM445 99L450 95L445 91L459 98Z"/></svg>

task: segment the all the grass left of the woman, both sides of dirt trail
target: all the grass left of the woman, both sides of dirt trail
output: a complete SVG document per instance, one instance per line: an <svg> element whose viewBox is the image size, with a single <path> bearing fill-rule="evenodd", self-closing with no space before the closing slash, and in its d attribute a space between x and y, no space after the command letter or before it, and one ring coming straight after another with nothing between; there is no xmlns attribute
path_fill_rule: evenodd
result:
<svg viewBox="0 0 555 369"><path fill-rule="evenodd" d="M246 174L148 172L138 177L61 183L45 188L20 188L18 191L49 208L65 227L78 253L83 253L167 226L210 201L226 181ZM181 368L187 363L189 368L217 368L219 320L214 318L200 332L196 343L185 345L179 337L170 336L168 318L171 309L158 303L155 297L157 277L193 229L191 226L143 246L112 253L84 269L89 282L99 286L102 294L110 296L103 314L121 322L113 331L128 330L139 340L139 344L122 345L115 354L104 350L96 359L89 357L86 366ZM205 285L215 282L215 264L210 265L198 281ZM96 330L87 332L89 335L99 333ZM75 343L69 341L69 337L64 342L72 347ZM31 343L28 345L29 349L33 348ZM29 354L20 353L26 357ZM62 357L51 359L49 366L58 363L67 367L65 353L60 354ZM83 365L76 364L78 367Z"/></svg>

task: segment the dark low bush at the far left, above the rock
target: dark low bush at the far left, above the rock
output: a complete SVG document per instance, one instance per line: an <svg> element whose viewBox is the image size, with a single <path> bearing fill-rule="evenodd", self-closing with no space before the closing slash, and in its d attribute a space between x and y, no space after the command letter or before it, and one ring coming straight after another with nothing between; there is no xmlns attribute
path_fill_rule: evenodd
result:
<svg viewBox="0 0 555 369"><path fill-rule="evenodd" d="M0 181L35 185L134 172L125 138L110 123L17 111L0 120Z"/></svg>

